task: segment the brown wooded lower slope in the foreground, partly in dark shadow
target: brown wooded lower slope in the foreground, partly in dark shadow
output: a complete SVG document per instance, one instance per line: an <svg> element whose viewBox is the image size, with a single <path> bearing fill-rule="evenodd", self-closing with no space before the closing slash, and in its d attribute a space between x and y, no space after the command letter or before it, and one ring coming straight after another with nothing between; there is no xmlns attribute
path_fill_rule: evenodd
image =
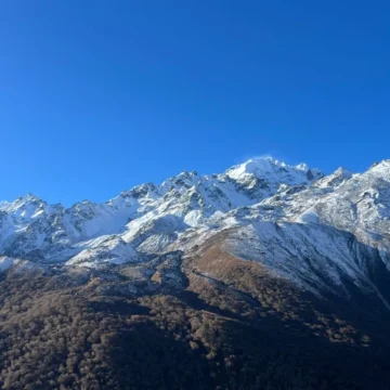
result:
<svg viewBox="0 0 390 390"><path fill-rule="evenodd" d="M99 294L96 281L5 277L0 387L389 388L386 340L373 340L352 316L328 312L249 262L226 259L223 270L207 264L208 278L202 262L197 273L184 265L186 290L138 297Z"/></svg>

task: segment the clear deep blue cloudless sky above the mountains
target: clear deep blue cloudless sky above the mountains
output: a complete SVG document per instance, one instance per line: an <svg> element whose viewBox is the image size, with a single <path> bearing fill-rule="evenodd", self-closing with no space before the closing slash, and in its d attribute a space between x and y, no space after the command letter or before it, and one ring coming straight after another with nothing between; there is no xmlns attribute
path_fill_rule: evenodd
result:
<svg viewBox="0 0 390 390"><path fill-rule="evenodd" d="M0 199L390 158L389 1L15 0L0 37Z"/></svg>

